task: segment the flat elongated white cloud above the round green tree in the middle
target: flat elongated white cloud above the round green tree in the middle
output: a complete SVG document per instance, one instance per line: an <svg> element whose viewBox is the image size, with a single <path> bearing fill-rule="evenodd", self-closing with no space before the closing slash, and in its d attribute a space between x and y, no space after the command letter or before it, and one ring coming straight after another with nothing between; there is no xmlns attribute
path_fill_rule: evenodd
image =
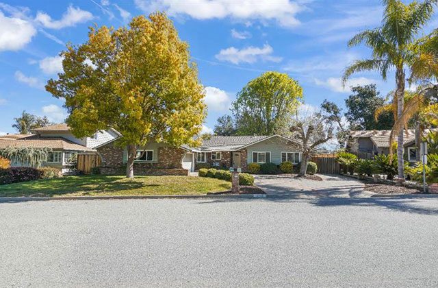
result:
<svg viewBox="0 0 438 288"><path fill-rule="evenodd" d="M233 64L239 63L254 63L257 60L280 62L282 58L272 56L274 49L268 44L263 47L249 46L244 49L237 49L235 47L229 47L222 49L216 54L216 59L221 61L228 61Z"/></svg>

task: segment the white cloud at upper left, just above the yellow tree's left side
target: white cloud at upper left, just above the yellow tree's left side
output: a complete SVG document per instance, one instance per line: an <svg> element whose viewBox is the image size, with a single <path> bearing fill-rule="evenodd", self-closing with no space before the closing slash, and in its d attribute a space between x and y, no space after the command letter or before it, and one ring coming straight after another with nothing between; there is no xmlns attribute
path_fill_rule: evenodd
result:
<svg viewBox="0 0 438 288"><path fill-rule="evenodd" d="M77 23L83 23L93 19L93 15L81 8L75 8L73 5L68 6L67 11L62 14L61 20L53 20L45 12L38 12L35 20L51 29L62 29L64 27L75 26Z"/></svg>

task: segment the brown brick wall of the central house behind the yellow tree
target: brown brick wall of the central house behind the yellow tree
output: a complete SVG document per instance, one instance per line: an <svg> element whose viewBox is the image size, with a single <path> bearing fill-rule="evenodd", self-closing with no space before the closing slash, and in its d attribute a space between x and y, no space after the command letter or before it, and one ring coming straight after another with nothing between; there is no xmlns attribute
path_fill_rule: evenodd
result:
<svg viewBox="0 0 438 288"><path fill-rule="evenodd" d="M125 174L123 163L123 148L108 143L97 148L102 157L101 173L105 175ZM183 169L182 159L185 150L179 147L158 147L157 163L134 163L134 173L137 175L188 175L189 171Z"/></svg>

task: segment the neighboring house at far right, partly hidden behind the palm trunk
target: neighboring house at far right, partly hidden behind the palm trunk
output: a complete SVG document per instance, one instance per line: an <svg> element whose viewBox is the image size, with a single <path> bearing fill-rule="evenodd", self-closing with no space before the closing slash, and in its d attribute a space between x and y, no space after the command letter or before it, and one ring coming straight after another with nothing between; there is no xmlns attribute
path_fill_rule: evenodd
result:
<svg viewBox="0 0 438 288"><path fill-rule="evenodd" d="M424 130L424 136L430 131L438 129ZM359 158L372 158L376 154L389 154L389 137L391 130L363 130L351 131L348 151L355 153ZM394 137L397 142L397 137ZM417 147L415 146L415 130L404 131L404 155L409 162L415 162Z"/></svg>

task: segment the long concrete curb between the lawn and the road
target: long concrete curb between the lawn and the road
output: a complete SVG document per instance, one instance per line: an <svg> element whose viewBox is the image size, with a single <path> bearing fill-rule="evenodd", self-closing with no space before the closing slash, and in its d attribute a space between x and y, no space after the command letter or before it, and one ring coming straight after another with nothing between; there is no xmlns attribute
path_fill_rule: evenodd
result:
<svg viewBox="0 0 438 288"><path fill-rule="evenodd" d="M238 194L238 195L133 195L133 196L60 196L60 197L0 197L2 202L26 202L49 200L123 200L123 199L224 199L224 198L266 198L266 194Z"/></svg>

